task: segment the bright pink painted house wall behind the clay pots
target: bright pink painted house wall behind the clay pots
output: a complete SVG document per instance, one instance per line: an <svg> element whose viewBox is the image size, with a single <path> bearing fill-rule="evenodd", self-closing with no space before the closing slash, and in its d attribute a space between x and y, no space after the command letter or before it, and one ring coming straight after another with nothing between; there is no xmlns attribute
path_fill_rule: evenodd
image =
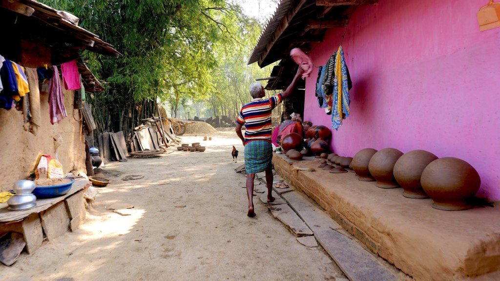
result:
<svg viewBox="0 0 500 281"><path fill-rule="evenodd" d="M487 0L379 0L359 7L343 39L351 115L333 131L341 155L359 149L425 149L472 164L478 195L500 199L500 28L479 32ZM343 28L313 46L315 65L338 48ZM306 80L304 120L330 126Z"/></svg>

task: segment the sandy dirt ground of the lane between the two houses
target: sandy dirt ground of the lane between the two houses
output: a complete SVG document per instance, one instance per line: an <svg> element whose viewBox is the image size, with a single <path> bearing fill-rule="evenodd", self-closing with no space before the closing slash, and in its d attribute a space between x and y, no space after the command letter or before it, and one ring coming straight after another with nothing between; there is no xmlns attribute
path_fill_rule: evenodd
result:
<svg viewBox="0 0 500 281"><path fill-rule="evenodd" d="M111 162L111 179L75 232L45 241L0 269L2 280L334 280L340 269L321 247L298 243L255 197L246 216L243 162L235 134L183 137L205 152ZM230 147L240 151L231 162ZM175 148L175 147L174 147ZM172 148L169 148L172 149ZM143 175L122 180L125 175ZM263 189L263 188L262 188ZM131 215L106 209L133 205Z"/></svg>

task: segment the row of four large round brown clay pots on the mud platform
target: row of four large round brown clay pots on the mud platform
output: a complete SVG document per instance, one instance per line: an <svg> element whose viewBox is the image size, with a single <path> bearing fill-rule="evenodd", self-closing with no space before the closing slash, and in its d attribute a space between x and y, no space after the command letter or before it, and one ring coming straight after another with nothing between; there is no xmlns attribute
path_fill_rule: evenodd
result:
<svg viewBox="0 0 500 281"><path fill-rule="evenodd" d="M359 150L351 163L361 181L376 181L380 188L404 189L408 198L430 198L432 207L464 210L480 186L480 177L469 163L454 157L438 158L425 150L404 153L395 148Z"/></svg>

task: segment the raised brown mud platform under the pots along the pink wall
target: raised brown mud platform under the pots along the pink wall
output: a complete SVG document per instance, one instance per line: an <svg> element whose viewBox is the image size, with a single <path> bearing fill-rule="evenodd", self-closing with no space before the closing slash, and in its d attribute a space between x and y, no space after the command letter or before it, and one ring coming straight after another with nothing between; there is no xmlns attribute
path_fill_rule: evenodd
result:
<svg viewBox="0 0 500 281"><path fill-rule="evenodd" d="M378 188L354 173L293 170L316 168L319 160L289 164L273 156L272 162L350 234L416 280L479 280L500 273L498 203L442 211L430 199L403 197L401 188Z"/></svg>

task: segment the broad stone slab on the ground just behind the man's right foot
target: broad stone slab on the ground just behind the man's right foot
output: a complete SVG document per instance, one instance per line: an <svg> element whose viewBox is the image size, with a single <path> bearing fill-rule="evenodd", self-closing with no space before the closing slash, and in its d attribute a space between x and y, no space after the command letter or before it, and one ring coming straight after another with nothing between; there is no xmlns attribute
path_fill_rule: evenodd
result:
<svg viewBox="0 0 500 281"><path fill-rule="evenodd" d="M312 231L343 229L328 213L311 202L303 193L293 191L283 194L282 197Z"/></svg>

